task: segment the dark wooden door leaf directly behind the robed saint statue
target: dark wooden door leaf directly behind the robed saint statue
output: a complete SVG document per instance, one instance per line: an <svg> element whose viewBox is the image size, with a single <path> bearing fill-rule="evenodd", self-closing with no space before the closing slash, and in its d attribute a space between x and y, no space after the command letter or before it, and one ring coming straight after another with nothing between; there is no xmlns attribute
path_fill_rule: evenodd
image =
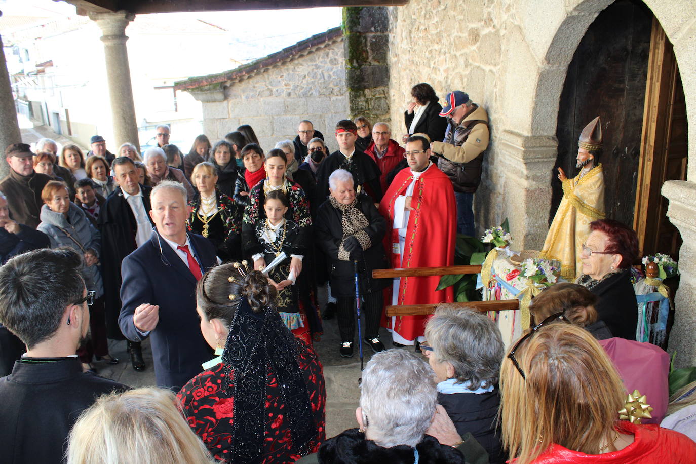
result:
<svg viewBox="0 0 696 464"><path fill-rule="evenodd" d="M596 17L580 41L561 93L556 166L578 174L583 127L601 116L606 217L633 224L653 15L640 1L619 0ZM549 224L563 196L552 176Z"/></svg>

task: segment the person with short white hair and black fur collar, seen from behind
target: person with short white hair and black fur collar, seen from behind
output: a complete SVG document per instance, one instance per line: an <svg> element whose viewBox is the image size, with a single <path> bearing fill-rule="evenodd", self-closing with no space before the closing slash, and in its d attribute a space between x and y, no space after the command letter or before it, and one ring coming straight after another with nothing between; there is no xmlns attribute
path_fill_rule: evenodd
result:
<svg viewBox="0 0 696 464"><path fill-rule="evenodd" d="M363 371L356 409L360 429L329 438L317 454L298 462L464 463L458 449L427 435L441 410L436 405L433 371L422 358L398 349L377 353Z"/></svg>

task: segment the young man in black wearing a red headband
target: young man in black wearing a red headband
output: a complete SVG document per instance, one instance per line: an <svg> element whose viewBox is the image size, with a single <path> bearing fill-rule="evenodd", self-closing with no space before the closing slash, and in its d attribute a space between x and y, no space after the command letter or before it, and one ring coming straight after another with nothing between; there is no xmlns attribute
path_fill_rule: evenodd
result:
<svg viewBox="0 0 696 464"><path fill-rule="evenodd" d="M356 149L358 127L355 122L349 119L338 121L335 134L338 150L324 159L317 170L317 205L321 205L329 195L329 176L337 169L345 169L353 175L356 191L358 186L362 186L372 200L379 202L382 199L381 173L370 156Z"/></svg>

